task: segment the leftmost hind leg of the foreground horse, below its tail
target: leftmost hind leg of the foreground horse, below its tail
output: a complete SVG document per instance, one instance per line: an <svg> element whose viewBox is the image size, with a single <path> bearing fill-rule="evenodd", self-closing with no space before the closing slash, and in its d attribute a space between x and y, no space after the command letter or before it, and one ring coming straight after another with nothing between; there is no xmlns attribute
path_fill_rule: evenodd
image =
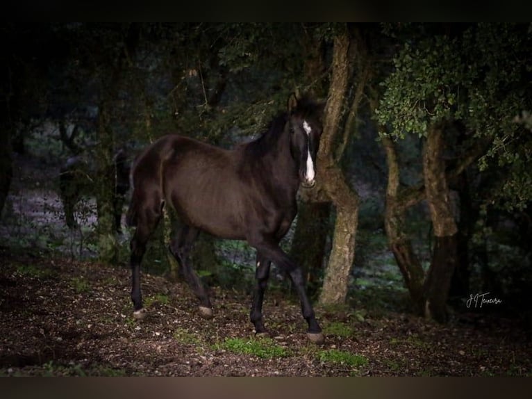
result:
<svg viewBox="0 0 532 399"><path fill-rule="evenodd" d="M131 238L131 300L133 301L133 317L142 319L146 315L146 309L142 307L142 293L140 291L140 262L146 252L148 240L156 229L162 213L162 205L144 206L136 213L135 234Z"/></svg>

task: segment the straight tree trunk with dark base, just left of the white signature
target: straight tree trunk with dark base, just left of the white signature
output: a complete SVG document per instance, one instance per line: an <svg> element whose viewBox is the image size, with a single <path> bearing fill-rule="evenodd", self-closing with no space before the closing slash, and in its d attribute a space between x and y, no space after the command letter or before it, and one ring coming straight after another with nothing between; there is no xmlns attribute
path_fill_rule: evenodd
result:
<svg viewBox="0 0 532 399"><path fill-rule="evenodd" d="M429 127L423 156L426 199L434 232L433 257L426 278L425 317L447 321L447 297L457 261L456 221L445 176L443 125Z"/></svg>

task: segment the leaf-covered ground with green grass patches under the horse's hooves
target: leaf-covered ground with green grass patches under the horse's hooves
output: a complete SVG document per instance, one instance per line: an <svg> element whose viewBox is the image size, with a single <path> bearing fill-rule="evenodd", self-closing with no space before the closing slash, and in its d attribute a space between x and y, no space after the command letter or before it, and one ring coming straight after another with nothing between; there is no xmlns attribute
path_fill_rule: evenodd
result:
<svg viewBox="0 0 532 399"><path fill-rule="evenodd" d="M306 339L294 298L265 300L272 339L255 339L248 295L213 288L205 320L183 282L144 274L149 317L135 321L126 268L0 250L0 375L530 375L532 345L513 320L449 325L387 312L321 309L326 343Z"/></svg>

